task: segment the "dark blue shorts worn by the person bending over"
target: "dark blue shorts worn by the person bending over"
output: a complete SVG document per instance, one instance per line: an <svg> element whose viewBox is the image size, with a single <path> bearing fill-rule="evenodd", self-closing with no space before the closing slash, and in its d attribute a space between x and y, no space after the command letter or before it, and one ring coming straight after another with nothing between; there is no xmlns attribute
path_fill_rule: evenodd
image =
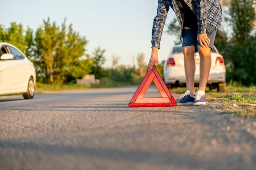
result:
<svg viewBox="0 0 256 170"><path fill-rule="evenodd" d="M182 29L182 32L181 32L181 36L183 39L182 46L184 47L184 46L194 45L195 51L197 52L198 51L197 46L200 45L200 43L196 40L198 36L198 28L197 26L191 26L187 29L186 28L187 27L184 27L184 29ZM214 26L207 24L206 34L211 41L209 45L211 49L213 49L216 33L217 33L217 29Z"/></svg>

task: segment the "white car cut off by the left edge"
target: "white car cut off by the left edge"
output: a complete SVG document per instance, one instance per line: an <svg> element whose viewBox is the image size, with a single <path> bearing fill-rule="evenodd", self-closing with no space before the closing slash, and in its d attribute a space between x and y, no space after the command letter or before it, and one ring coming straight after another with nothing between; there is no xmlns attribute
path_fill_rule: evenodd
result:
<svg viewBox="0 0 256 170"><path fill-rule="evenodd" d="M35 87L34 64L15 46L0 42L0 95L22 94L32 99Z"/></svg>

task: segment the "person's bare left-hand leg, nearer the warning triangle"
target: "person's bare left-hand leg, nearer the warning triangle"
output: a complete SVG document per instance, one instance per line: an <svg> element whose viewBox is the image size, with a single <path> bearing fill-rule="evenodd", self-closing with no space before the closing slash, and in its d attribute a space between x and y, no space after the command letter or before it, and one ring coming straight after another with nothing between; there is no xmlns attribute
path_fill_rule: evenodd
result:
<svg viewBox="0 0 256 170"><path fill-rule="evenodd" d="M184 68L186 74L186 89L195 96L195 46L184 46Z"/></svg>

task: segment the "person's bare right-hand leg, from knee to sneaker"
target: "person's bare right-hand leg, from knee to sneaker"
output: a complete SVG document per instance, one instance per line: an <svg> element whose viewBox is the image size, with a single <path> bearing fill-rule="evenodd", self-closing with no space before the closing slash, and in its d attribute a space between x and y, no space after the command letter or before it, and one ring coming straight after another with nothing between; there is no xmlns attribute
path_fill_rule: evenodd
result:
<svg viewBox="0 0 256 170"><path fill-rule="evenodd" d="M200 82L198 90L204 91L205 93L211 69L211 48L198 46L198 53L200 55Z"/></svg>

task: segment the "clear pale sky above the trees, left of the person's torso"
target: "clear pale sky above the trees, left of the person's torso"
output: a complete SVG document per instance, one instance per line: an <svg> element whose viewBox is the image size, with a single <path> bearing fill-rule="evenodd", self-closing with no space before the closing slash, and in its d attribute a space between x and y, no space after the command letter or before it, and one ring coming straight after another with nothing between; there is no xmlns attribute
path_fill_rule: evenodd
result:
<svg viewBox="0 0 256 170"><path fill-rule="evenodd" d="M35 32L50 18L61 26L72 24L74 31L88 40L87 53L95 48L105 49L105 67L112 66L113 56L118 64L137 66L138 53L144 53L145 64L151 55L151 31L157 12L157 0L11 0L2 4L0 24L5 28L11 22L29 26ZM166 60L174 45L173 37L165 33L169 20L174 18L169 11L159 50L159 62ZM132 58L135 58L134 62Z"/></svg>

